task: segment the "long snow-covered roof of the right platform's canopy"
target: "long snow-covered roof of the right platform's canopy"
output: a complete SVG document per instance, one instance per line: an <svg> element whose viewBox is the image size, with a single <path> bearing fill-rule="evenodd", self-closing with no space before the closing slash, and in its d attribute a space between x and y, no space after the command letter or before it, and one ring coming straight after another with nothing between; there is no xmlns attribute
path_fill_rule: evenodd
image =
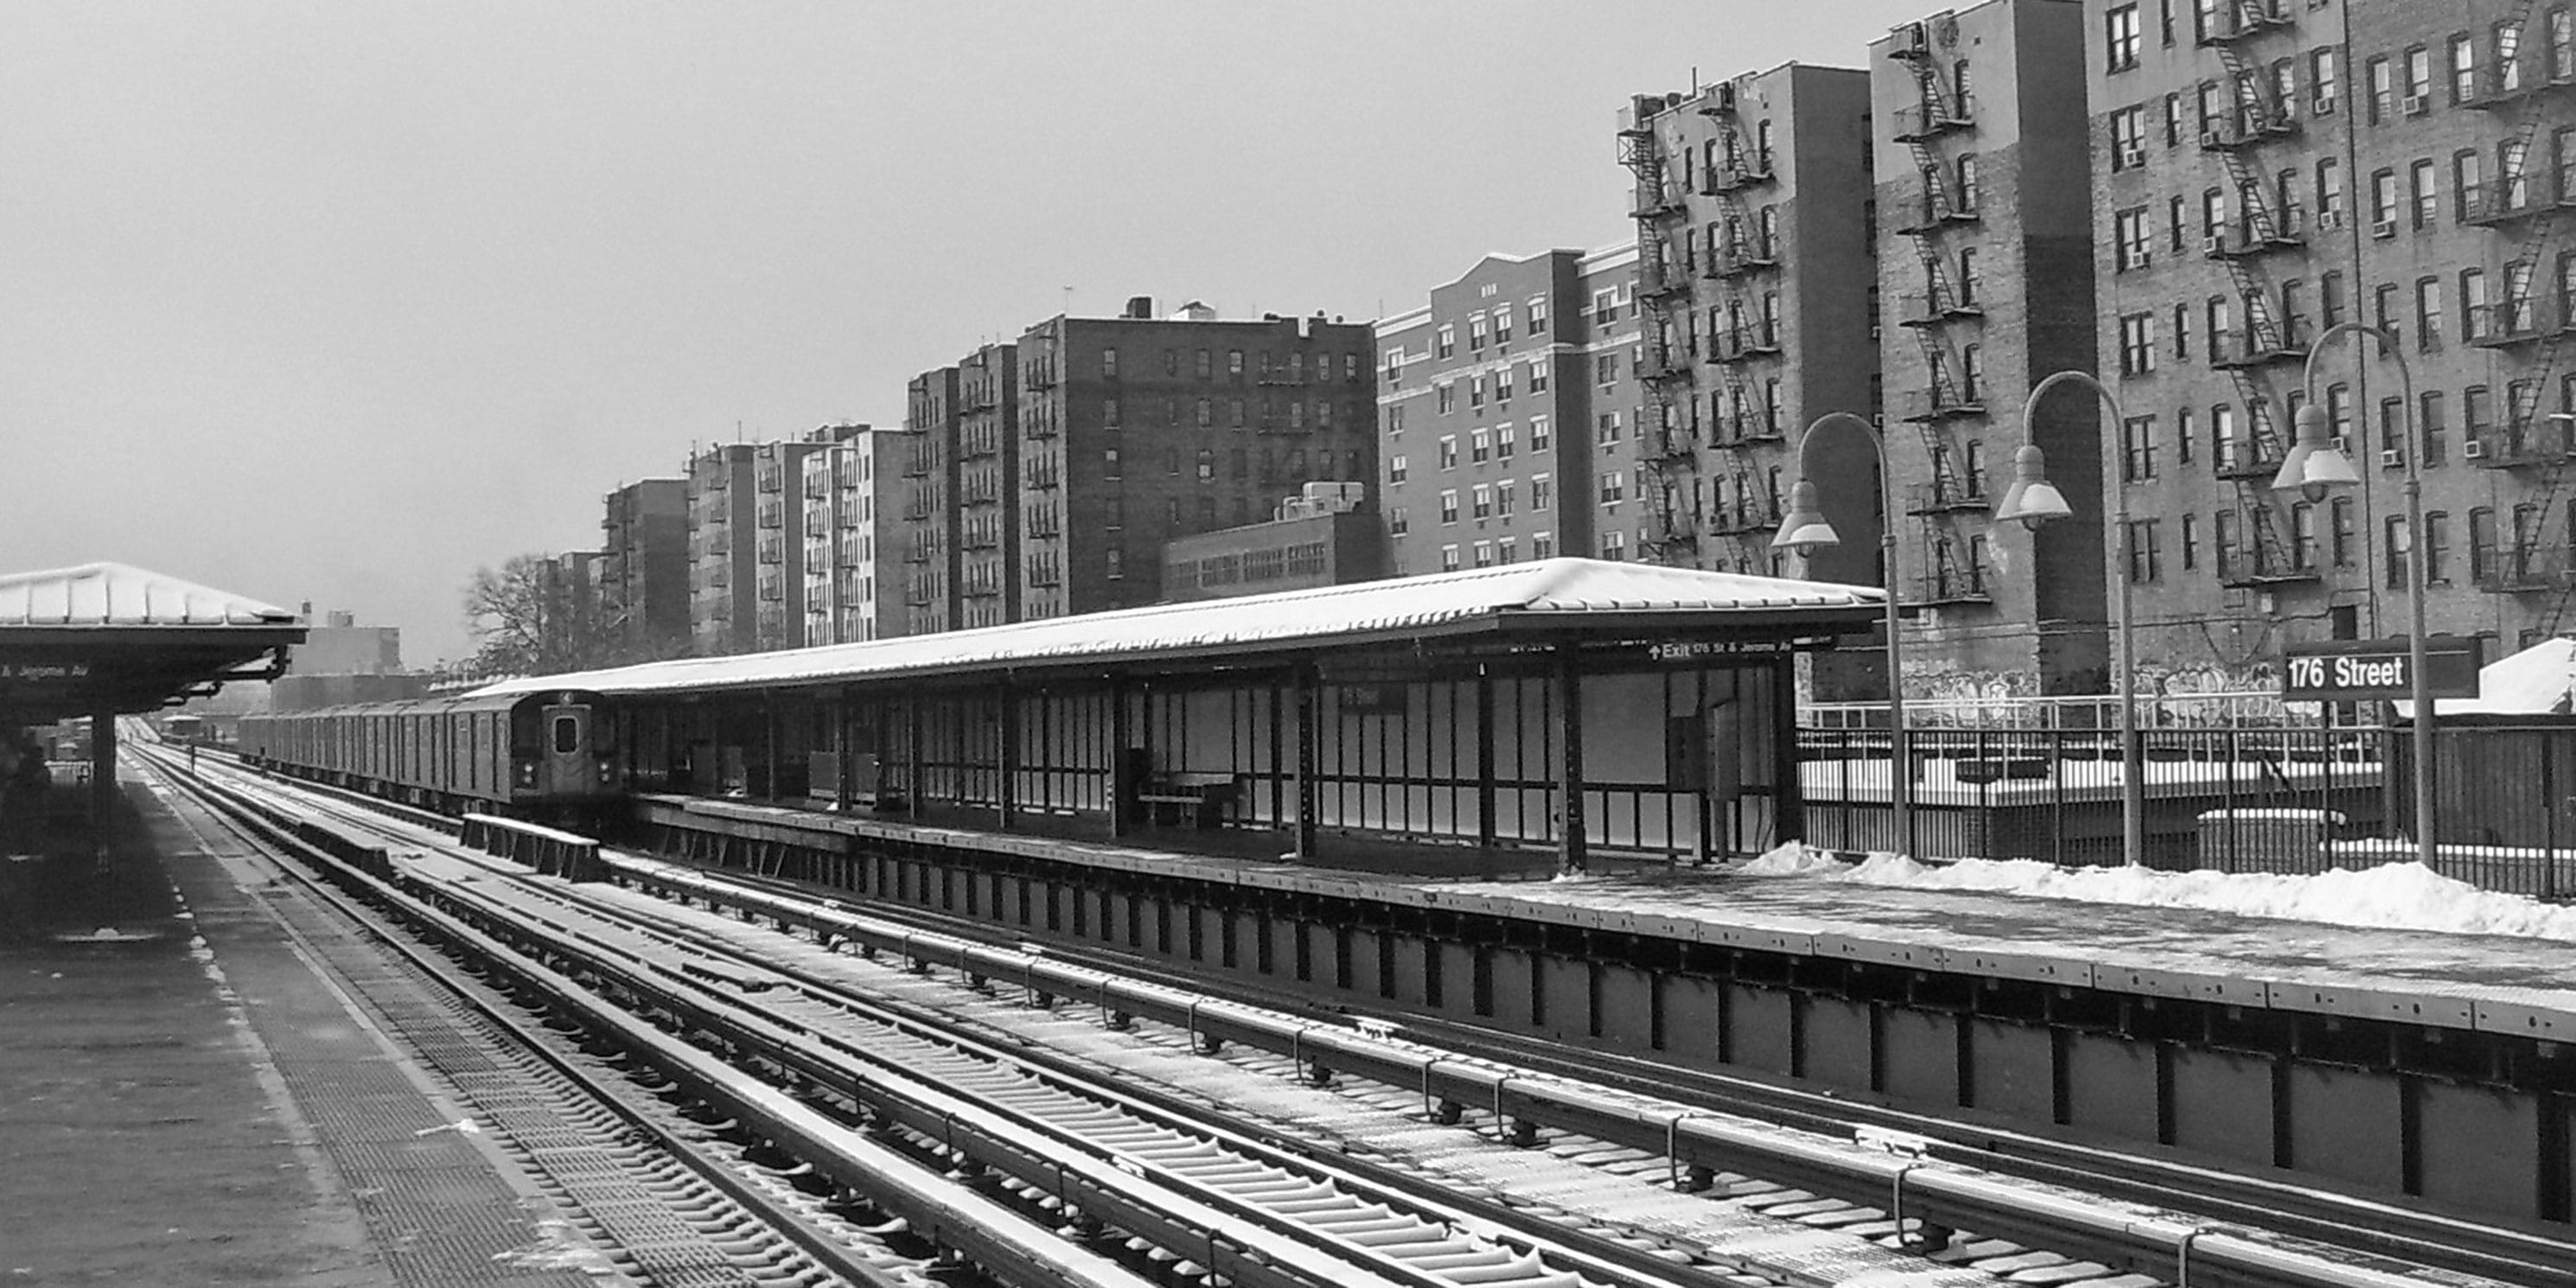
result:
<svg viewBox="0 0 2576 1288"><path fill-rule="evenodd" d="M824 644L742 657L683 657L580 675L500 680L477 693L538 688L649 693L714 685L791 685L842 675L940 672L1012 662L1077 662L1087 657L1180 654L1200 649L1288 647L1368 634L1445 634L1504 621L1548 621L1605 613L1662 613L1695 626L1723 618L1793 634L1832 629L1880 611L1878 587L1747 577L1602 559L1543 559L1486 569L1399 577L1386 582L1280 590L1203 603L1157 603L1113 613L938 631L927 636ZM1855 613L1860 611L1860 613ZM1705 621L1718 616L1718 623ZM1677 621L1674 626L1685 626Z"/></svg>

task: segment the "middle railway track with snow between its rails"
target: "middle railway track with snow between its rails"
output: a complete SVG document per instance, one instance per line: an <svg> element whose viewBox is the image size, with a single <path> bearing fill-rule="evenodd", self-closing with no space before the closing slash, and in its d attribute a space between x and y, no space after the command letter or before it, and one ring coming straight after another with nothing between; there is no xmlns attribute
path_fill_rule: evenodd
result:
<svg viewBox="0 0 2576 1288"><path fill-rule="evenodd" d="M283 817L312 806L270 796L245 809ZM348 814L327 827L361 853L420 842L410 829L384 832ZM374 835L355 837L361 829ZM1133 1262L1123 1265L1128 1275L1309 1288L1662 1280L1662 1262L1631 1249L1602 1260L1582 1236L1546 1224L1479 1221L1455 1203L1267 1146L1211 1123L1211 1113L1146 1105L1097 1072L1084 1079L1064 1066L1041 1069L917 1018L876 1012L848 989L708 953L688 943L685 930L652 925L654 917L634 909L603 909L562 884L520 881L526 873L430 850L402 850L399 868L394 884L435 904L415 917L446 922L440 933L451 943L477 943L487 961L507 951L538 961L513 974L544 984L551 1005L580 1012L595 1033L616 1033L696 1095L721 1100L765 1146L799 1154L837 1182L886 1172L889 1159L863 1159L824 1131L796 1131L781 1103L837 1110L845 1133L860 1126L855 1136L886 1141L878 1154L933 1164L933 1188L989 1193L1018 1213L1023 1239L1056 1236L1082 1252L1115 1231L1126 1257L1108 1260ZM677 1059L670 1033L688 1033L701 1056ZM716 1069L706 1048L721 1051L737 1072ZM984 1224L1002 1221L987 1213ZM943 1242L951 1234L938 1231ZM992 1257L989 1247L961 1252L1007 1280L1064 1280L1066 1270L1030 1273ZM1077 1278L1115 1280L1097 1267Z"/></svg>

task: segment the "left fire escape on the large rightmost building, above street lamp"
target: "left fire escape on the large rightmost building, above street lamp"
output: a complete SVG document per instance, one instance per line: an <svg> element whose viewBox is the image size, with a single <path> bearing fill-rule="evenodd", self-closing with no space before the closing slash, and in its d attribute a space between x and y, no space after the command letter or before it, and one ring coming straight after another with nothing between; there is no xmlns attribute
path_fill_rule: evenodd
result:
<svg viewBox="0 0 2576 1288"><path fill-rule="evenodd" d="M2218 52L2226 67L2231 103L2226 116L2200 121L2200 149L2218 157L2236 191L2236 224L2208 237L2202 255L2218 260L2239 309L2244 330L2236 335L2210 335L2213 363L2236 384L2244 404L2244 435L2221 443L2218 477L2236 484L2236 510L2244 513L2246 556L2239 574L2223 574L2231 587L2275 587L2287 582L2313 582L2313 567L2303 567L2282 541L2280 510L2272 500L2272 477L2287 453L2287 438L2275 415L2272 371L2290 368L2308 355L2308 335L2272 307L2272 283L2264 260L2275 252L2298 252L2306 245L2300 206L2290 193L2267 193L2262 167L2254 155L2280 139L2298 134L2298 106L2264 82L2262 59L2249 59L2246 46L2293 28L2293 0L2233 0L2221 3L2210 28L2200 33L2205 49Z"/></svg>

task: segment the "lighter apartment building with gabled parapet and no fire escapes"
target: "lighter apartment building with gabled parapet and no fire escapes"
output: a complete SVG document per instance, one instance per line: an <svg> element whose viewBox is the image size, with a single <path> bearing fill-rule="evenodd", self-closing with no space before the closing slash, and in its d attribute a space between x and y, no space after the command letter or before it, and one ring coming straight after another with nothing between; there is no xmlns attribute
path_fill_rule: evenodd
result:
<svg viewBox="0 0 2576 1288"><path fill-rule="evenodd" d="M1378 477L1399 577L1628 556L1636 247L1486 255L1376 325Z"/></svg>

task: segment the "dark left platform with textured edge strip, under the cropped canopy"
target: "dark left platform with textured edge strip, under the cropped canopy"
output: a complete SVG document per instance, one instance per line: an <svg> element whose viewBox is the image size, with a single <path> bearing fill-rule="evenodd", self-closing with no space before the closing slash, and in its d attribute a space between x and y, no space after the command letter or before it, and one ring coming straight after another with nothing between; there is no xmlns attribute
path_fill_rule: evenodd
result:
<svg viewBox="0 0 2576 1288"><path fill-rule="evenodd" d="M95 850L72 814L0 853L0 1283L600 1283L276 868L113 801Z"/></svg>

